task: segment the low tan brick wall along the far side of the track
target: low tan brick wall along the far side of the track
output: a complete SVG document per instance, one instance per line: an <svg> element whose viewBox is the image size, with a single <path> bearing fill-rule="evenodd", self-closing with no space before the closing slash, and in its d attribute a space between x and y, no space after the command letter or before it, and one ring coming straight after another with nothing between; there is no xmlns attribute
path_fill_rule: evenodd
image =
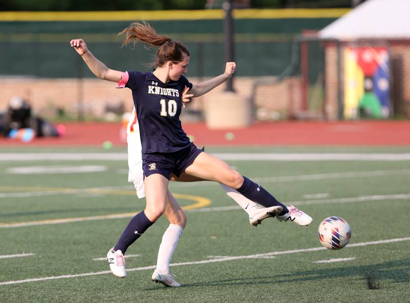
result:
<svg viewBox="0 0 410 303"><path fill-rule="evenodd" d="M76 79L44 79L44 78L0 78L0 111L7 109L13 96L20 96L30 101L34 110L45 116L55 116L56 109L64 109L76 116L78 107L83 106L86 116L103 117L107 105L123 104L126 111L133 107L129 89L116 89L115 83L100 79L86 78L79 82ZM190 78L192 83L198 79ZM234 88L241 97L250 98L253 83L258 78L235 78ZM218 99L226 85L222 84L208 94L195 98L191 109L204 110L207 98ZM289 91L292 95L289 96ZM255 94L255 105L268 110L285 111L289 108L289 100L293 100L293 108L300 107L300 86L297 78L285 79L280 83L259 86ZM80 102L81 101L81 102Z"/></svg>

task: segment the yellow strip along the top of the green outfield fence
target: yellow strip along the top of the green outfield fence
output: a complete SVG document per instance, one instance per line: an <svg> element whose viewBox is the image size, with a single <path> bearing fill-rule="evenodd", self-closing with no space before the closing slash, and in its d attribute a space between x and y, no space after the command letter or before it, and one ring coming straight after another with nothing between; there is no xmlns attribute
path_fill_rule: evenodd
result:
<svg viewBox="0 0 410 303"><path fill-rule="evenodd" d="M350 9L237 9L235 19L338 18ZM0 12L0 21L137 21L222 19L221 9L93 12Z"/></svg>

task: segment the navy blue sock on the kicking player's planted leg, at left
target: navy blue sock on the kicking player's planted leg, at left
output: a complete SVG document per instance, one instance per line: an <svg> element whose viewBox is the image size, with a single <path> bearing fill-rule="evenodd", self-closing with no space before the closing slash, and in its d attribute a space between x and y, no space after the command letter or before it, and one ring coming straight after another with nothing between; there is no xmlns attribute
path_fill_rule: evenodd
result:
<svg viewBox="0 0 410 303"><path fill-rule="evenodd" d="M136 214L119 237L114 251L119 249L125 254L127 248L153 224L154 222L151 222L143 211Z"/></svg>

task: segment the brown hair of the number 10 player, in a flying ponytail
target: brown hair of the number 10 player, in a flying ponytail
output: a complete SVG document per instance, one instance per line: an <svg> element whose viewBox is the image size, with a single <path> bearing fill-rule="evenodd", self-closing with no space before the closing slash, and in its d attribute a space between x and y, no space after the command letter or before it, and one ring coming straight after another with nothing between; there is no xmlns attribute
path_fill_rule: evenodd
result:
<svg viewBox="0 0 410 303"><path fill-rule="evenodd" d="M146 22L134 22L118 33L118 35L125 35L123 46L131 41L134 45L138 41L142 41L149 45L159 47L155 59L156 66L163 66L168 61L172 61L173 63L181 62L184 54L190 56L185 45L179 41L173 41L170 37L158 35L155 29Z"/></svg>

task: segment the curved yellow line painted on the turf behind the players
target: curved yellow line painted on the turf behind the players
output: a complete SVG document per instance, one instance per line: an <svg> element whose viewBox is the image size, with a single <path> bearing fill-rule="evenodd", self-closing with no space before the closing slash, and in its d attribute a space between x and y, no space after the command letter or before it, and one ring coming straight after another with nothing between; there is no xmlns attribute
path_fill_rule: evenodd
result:
<svg viewBox="0 0 410 303"><path fill-rule="evenodd" d="M88 193L101 193L101 194L111 194L111 195L135 195L135 191L130 190L110 190L110 189L74 189L74 188L42 188L42 187L17 187L17 186L0 186L0 190L38 190L38 191L61 191L61 192L88 192ZM183 210L192 210L197 208L202 208L211 205L211 200L205 197L185 195L173 193L174 197L183 200L192 200L195 203L183 206ZM91 221L91 220L105 220L105 219L118 219L133 217L137 212L131 213L121 213L121 214L110 214L110 215L100 215L100 216L88 216L88 217L74 217L74 218L63 218L63 219L48 219L48 220L37 220L37 221L26 221L26 222L14 222L14 223L0 223L0 228L13 228L13 227L26 227L26 226L36 226L36 225L48 225L48 224L62 224L62 223L72 223L81 221Z"/></svg>

